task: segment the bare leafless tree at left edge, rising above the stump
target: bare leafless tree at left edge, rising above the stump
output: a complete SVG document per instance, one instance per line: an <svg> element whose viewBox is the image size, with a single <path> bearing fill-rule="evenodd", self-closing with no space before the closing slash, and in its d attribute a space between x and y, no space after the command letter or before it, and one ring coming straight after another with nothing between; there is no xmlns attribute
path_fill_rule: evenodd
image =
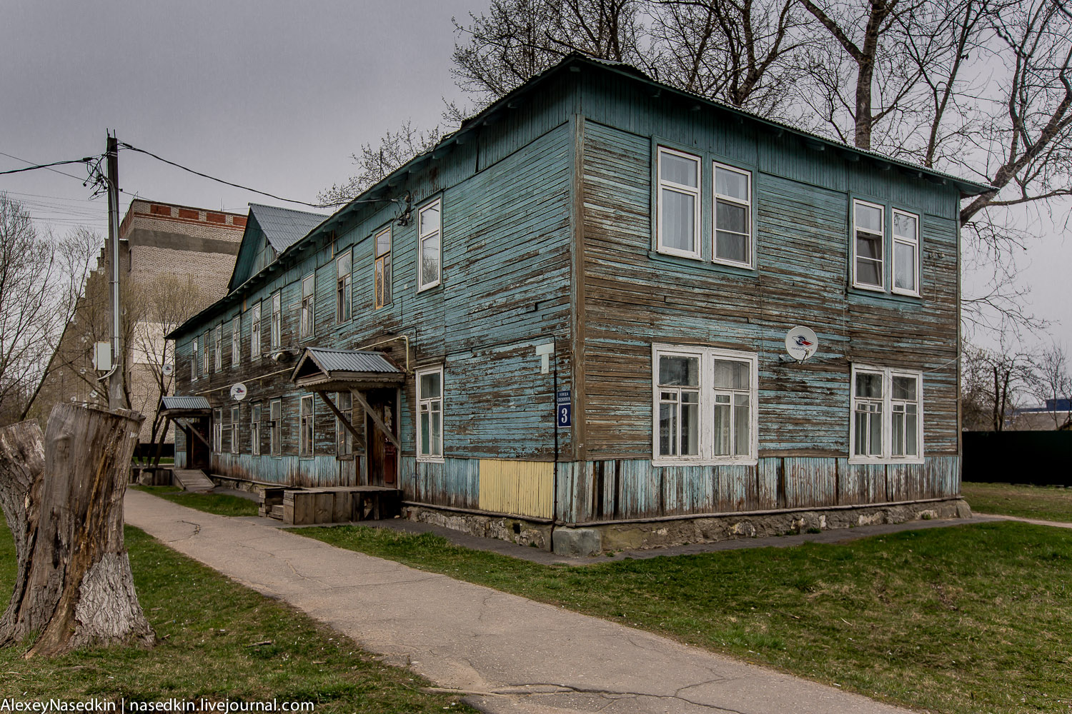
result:
<svg viewBox="0 0 1072 714"><path fill-rule="evenodd" d="M0 194L0 424L26 417L81 291L95 237L36 230Z"/></svg>

